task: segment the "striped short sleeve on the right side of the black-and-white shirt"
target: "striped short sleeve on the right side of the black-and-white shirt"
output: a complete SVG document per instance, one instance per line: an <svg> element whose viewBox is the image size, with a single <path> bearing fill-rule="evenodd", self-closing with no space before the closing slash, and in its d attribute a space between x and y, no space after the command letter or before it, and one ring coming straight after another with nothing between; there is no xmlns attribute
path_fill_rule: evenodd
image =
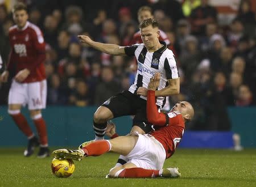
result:
<svg viewBox="0 0 256 187"><path fill-rule="evenodd" d="M167 56L164 59L164 70L166 71L167 79L176 79L179 78L179 72L177 70L177 65L174 55Z"/></svg>

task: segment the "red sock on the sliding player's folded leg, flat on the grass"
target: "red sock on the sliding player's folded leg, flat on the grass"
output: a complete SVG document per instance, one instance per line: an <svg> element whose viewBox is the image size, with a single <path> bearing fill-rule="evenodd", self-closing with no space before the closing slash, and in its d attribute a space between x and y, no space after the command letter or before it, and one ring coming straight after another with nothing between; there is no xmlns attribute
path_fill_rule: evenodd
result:
<svg viewBox="0 0 256 187"><path fill-rule="evenodd" d="M159 170L128 168L119 173L118 178L155 178L159 177Z"/></svg>

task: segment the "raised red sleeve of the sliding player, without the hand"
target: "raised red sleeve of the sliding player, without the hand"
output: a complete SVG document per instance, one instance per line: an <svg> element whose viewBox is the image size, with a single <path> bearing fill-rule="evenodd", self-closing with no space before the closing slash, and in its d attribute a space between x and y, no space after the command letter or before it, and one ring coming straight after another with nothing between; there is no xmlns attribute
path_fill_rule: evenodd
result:
<svg viewBox="0 0 256 187"><path fill-rule="evenodd" d="M166 126L169 122L167 114L158 112L155 104L155 91L152 90L147 91L147 120L156 126Z"/></svg>

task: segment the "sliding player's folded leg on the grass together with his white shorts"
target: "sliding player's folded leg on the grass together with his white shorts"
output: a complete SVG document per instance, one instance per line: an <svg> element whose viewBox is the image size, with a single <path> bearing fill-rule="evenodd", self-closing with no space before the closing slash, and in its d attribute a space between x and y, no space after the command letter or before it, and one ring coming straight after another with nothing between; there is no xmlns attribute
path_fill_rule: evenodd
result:
<svg viewBox="0 0 256 187"><path fill-rule="evenodd" d="M129 162L110 170L110 177L179 177L178 168L162 169L166 159L163 145L154 137L139 135L136 146L126 155ZM126 167L126 166L129 167Z"/></svg>

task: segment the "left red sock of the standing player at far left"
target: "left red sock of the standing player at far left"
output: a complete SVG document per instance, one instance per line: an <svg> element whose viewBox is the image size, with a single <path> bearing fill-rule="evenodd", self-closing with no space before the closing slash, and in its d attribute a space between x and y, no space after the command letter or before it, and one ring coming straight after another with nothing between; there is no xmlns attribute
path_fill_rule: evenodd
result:
<svg viewBox="0 0 256 187"><path fill-rule="evenodd" d="M23 116L22 113L11 114L11 117L13 117L15 124L23 132L23 134L25 134L27 137L31 137L33 135L33 132L28 125L26 118Z"/></svg>

